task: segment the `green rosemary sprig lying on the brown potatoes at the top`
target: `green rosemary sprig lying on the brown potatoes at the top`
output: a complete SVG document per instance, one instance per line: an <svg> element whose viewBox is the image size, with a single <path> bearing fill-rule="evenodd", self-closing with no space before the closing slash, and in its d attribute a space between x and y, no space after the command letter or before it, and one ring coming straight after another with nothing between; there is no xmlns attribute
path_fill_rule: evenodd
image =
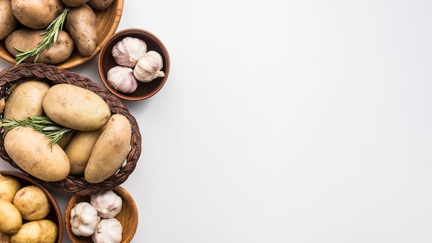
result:
<svg viewBox="0 0 432 243"><path fill-rule="evenodd" d="M63 23L66 20L66 14L68 13L68 11L68 7L64 8L63 11L61 11L61 13L59 14L59 16L57 16L46 28L46 31L41 33L41 35L44 35L45 37L43 37L43 39L37 44L37 48L23 50L14 46L14 48L19 51L19 53L15 55L15 61L17 61L17 64L15 65L21 64L21 62L32 56L36 56L33 62L37 62L37 59L39 59L39 54L41 54L41 52L45 49L48 50L51 47L52 43L55 43L55 41L57 41L59 30L63 29Z"/></svg>

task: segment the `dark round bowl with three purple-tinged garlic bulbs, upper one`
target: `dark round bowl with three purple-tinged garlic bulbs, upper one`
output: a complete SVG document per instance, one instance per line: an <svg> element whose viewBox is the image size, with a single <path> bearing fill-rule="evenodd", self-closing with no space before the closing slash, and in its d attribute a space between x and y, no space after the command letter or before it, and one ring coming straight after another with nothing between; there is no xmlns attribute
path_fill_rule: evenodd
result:
<svg viewBox="0 0 432 243"><path fill-rule="evenodd" d="M166 83L170 58L164 43L147 30L121 30L102 46L99 77L117 97L130 101L148 99Z"/></svg>

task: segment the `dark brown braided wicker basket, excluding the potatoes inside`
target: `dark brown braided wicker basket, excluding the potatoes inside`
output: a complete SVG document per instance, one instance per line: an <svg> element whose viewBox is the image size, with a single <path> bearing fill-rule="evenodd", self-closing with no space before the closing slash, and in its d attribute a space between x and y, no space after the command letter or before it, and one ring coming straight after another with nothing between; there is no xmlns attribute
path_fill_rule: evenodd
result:
<svg viewBox="0 0 432 243"><path fill-rule="evenodd" d="M32 179L37 180L37 182L49 184L50 186L61 188L63 189L63 191L75 193L77 195L91 195L95 193L100 193L102 191L109 191L118 186L119 184L125 182L126 179L128 179L130 173L134 171L135 166L137 165L137 161L139 159L139 155L141 154L141 135L139 133L138 124L135 120L135 117L132 117L132 115L130 115L128 108L121 104L119 98L109 93L109 91L105 88L101 88L101 86L95 84L90 79L82 77L75 72L70 72L68 70L41 63L23 63L19 64L18 66L7 68L0 72L0 99L5 98L7 102L8 95L10 93L8 92L8 89L11 88L14 84L25 82L28 79L40 79L41 81L46 81L46 83L50 86L55 84L72 84L74 86L86 88L87 90L90 90L99 95L99 97L106 101L106 103L110 107L112 114L117 113L124 115L128 118L130 126L132 127L132 137L130 139L130 153L127 157L126 163L123 164L123 166L119 169L119 171L117 171L115 175L112 175L104 182L100 182L97 184L86 182L83 177L77 177L73 175L69 175L66 179L63 179L59 182L45 182L26 173L26 171L23 171L21 168L19 168L19 166L17 166L17 164L12 161L12 159L6 152L3 141L4 130L0 131L0 157L13 167L18 168L19 170L23 171L23 173L26 173L26 175L32 177ZM0 118L3 119L3 111L0 113Z"/></svg>

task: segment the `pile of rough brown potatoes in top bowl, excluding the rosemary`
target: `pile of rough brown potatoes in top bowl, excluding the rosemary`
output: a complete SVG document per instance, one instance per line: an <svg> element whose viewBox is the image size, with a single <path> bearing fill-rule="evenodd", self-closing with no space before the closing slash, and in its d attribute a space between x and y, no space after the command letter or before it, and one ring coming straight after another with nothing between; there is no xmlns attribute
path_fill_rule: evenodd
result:
<svg viewBox="0 0 432 243"><path fill-rule="evenodd" d="M45 64L59 64L72 55L75 48L84 57L97 47L95 10L105 10L114 0L0 0L0 40L11 55L37 48L49 24L68 7L66 21L57 41L43 50L37 59ZM35 56L25 61L32 62Z"/></svg>

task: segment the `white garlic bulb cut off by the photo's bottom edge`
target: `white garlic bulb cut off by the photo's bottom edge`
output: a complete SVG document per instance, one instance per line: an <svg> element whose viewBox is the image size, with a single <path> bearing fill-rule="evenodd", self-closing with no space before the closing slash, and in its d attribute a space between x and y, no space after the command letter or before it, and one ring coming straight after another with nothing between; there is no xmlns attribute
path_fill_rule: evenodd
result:
<svg viewBox="0 0 432 243"><path fill-rule="evenodd" d="M95 243L119 243L123 227L115 217L101 219L92 240Z"/></svg>

